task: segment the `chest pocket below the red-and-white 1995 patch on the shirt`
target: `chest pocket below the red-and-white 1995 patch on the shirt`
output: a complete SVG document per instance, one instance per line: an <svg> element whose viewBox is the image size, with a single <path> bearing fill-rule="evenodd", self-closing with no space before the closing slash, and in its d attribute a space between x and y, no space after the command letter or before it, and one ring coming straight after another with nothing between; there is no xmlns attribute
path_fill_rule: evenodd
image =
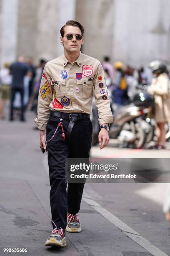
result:
<svg viewBox="0 0 170 256"><path fill-rule="evenodd" d="M93 95L93 81L88 81L87 78L77 80L77 87L82 88L82 99L87 100Z"/></svg>

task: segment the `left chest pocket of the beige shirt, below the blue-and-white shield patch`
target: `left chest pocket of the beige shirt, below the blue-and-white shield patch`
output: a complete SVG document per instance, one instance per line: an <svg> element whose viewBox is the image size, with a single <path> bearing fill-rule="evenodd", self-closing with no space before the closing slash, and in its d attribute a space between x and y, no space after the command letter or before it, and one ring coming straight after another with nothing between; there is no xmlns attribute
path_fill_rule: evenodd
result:
<svg viewBox="0 0 170 256"><path fill-rule="evenodd" d="M54 86L57 99L61 99L62 97L67 96L65 80L60 77L52 77L51 84Z"/></svg>

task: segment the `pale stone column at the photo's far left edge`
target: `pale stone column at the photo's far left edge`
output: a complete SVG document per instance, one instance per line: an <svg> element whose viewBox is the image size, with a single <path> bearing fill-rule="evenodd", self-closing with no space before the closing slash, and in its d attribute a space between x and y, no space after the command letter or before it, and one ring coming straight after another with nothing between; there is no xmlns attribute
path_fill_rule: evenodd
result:
<svg viewBox="0 0 170 256"><path fill-rule="evenodd" d="M0 65L15 61L17 52L18 0L1 1Z"/></svg>

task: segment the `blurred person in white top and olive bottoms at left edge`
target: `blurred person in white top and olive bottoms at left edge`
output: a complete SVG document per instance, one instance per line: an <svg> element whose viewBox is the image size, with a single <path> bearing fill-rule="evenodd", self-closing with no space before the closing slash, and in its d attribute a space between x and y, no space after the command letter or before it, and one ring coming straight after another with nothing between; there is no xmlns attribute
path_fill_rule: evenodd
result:
<svg viewBox="0 0 170 256"><path fill-rule="evenodd" d="M12 77L10 75L10 63L6 62L4 68L0 70L0 85L2 88L1 102L0 102L0 118L4 119L5 102L10 99L10 86Z"/></svg>

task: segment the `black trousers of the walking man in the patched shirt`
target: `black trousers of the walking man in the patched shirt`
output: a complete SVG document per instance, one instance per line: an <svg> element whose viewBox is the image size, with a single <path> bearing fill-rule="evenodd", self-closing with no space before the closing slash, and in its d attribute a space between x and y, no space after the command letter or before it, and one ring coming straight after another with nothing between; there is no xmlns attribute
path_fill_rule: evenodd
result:
<svg viewBox="0 0 170 256"><path fill-rule="evenodd" d="M65 134L69 120L62 119ZM50 116L46 128L46 141L48 141L60 123L60 118ZM70 141L63 139L62 130L59 127L54 138L47 142L48 166L50 176L50 206L52 226L63 228L67 225L67 212L76 214L80 210L83 183L65 182L66 158L89 158L92 139L92 123L90 118L77 120L72 128ZM54 224L55 223L55 224Z"/></svg>

